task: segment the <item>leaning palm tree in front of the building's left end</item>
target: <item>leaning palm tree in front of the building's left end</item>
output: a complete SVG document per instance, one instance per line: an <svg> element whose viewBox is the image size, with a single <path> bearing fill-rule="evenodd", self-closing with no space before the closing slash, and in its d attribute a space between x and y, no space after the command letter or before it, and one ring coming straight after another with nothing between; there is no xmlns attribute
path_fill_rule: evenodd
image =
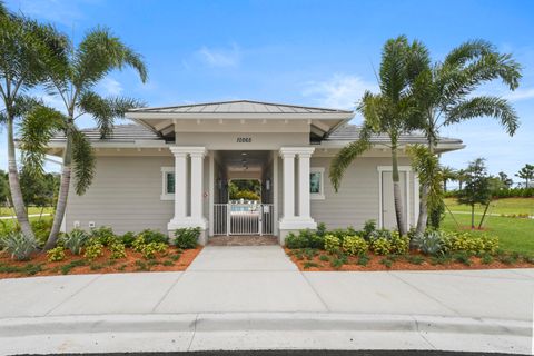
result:
<svg viewBox="0 0 534 356"><path fill-rule="evenodd" d="M49 71L47 88L61 98L66 112L38 107L23 120L21 139L26 149L23 159L33 170L41 169L44 147L51 132L59 129L66 137L56 215L44 249L56 246L67 207L71 175L76 192L82 195L90 186L95 174L91 145L78 130L76 119L85 113L91 115L100 129L101 138L106 138L111 132L116 118L123 117L127 110L141 105L129 98L102 98L93 91L93 87L111 70L120 70L125 66L132 67L142 82L147 80L147 68L140 55L123 44L109 30L102 28L91 30L77 48L72 46L63 62ZM48 119L38 120L39 117Z"/></svg>

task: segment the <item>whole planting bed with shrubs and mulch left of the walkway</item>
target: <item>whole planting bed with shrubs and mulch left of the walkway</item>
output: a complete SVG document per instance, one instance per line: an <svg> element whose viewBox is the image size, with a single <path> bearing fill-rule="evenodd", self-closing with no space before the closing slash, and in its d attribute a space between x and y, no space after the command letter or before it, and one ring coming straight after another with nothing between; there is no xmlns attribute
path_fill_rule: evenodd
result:
<svg viewBox="0 0 534 356"><path fill-rule="evenodd" d="M41 251L42 244L10 231L0 238L0 278L28 276L110 274L185 270L200 253L200 229L116 235L108 227L61 235L55 248Z"/></svg>

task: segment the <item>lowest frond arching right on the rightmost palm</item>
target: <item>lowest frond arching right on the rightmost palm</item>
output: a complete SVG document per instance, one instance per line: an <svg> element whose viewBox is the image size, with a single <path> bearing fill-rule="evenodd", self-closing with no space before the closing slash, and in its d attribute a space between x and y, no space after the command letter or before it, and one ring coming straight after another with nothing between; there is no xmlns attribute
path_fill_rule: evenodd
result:
<svg viewBox="0 0 534 356"><path fill-rule="evenodd" d="M510 136L513 136L520 126L517 113L506 99L485 96L471 98L452 107L447 112L444 125L478 117L491 117L500 120Z"/></svg>

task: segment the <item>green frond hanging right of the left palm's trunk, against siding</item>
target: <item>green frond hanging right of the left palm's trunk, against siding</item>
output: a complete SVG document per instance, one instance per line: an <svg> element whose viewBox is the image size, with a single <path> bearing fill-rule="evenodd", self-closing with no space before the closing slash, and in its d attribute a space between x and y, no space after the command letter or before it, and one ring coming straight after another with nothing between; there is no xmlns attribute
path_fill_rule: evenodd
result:
<svg viewBox="0 0 534 356"><path fill-rule="evenodd" d="M76 194L83 195L95 177L95 155L83 132L72 131L72 172Z"/></svg>

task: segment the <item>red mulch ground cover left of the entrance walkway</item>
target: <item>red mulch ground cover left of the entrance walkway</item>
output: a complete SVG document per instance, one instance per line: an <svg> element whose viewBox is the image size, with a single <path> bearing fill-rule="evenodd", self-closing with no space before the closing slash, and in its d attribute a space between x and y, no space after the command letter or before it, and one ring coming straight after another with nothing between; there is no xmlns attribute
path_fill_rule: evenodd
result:
<svg viewBox="0 0 534 356"><path fill-rule="evenodd" d="M0 279L19 278L33 276L58 276L58 275L87 275L87 274L117 274L135 271L178 271L186 270L202 248L180 250L169 247L165 254L157 254L154 259L146 259L140 253L131 248L126 249L126 258L110 259L111 253L105 248L103 255L87 260L82 255L72 255L69 250L65 251L65 259L61 261L49 263L47 254L36 254L30 260L12 260L6 253L0 253ZM81 266L75 266L65 273L61 267L80 261ZM164 265L165 263L165 265ZM28 265L40 266L37 273L28 271L6 271L2 267L24 268Z"/></svg>

